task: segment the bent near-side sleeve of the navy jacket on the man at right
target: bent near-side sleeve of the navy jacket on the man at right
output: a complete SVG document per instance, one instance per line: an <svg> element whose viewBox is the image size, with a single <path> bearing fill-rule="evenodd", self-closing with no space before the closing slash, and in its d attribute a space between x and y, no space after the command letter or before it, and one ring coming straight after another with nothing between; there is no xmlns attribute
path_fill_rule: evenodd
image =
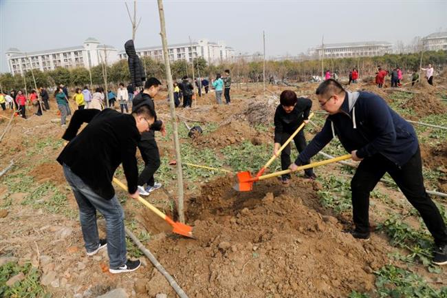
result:
<svg viewBox="0 0 447 298"><path fill-rule="evenodd" d="M375 132L375 138L369 144L357 150L359 158L373 156L389 147L396 140L396 132L391 111L379 96L364 100L369 128Z"/></svg>

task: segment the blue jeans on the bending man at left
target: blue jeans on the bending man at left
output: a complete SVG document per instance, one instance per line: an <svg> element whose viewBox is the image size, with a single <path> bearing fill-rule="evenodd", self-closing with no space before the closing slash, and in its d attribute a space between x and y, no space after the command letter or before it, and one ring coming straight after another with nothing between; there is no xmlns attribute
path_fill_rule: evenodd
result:
<svg viewBox="0 0 447 298"><path fill-rule="evenodd" d="M83 231L85 249L95 251L99 246L96 211L104 215L107 227L107 253L110 268L119 268L127 261L126 233L124 232L124 211L116 195L105 200L97 195L78 175L63 164L68 184L73 189L74 198L79 206L79 221Z"/></svg>

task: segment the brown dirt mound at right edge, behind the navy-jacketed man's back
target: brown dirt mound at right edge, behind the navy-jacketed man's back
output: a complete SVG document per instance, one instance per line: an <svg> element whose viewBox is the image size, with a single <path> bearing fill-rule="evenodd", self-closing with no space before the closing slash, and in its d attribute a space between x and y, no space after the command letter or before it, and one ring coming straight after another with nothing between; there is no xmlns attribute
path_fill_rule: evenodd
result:
<svg viewBox="0 0 447 298"><path fill-rule="evenodd" d="M419 117L447 113L446 105L442 105L441 101L431 94L416 94L408 99L402 108L413 109Z"/></svg>

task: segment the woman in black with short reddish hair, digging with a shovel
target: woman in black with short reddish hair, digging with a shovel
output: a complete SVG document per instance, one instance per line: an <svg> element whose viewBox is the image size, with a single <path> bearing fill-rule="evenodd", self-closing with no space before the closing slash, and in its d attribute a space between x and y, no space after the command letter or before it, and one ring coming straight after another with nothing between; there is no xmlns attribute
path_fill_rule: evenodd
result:
<svg viewBox="0 0 447 298"><path fill-rule="evenodd" d="M297 98L295 92L291 90L284 90L279 96L280 104L276 107L274 114L274 156L278 155L280 147L286 142L288 138L296 131L296 129L309 120L310 109L312 108L312 100L309 98ZM301 152L306 147L306 139L304 131L296 134L294 143L298 152ZM303 164L309 164L310 158L305 160ZM290 144L281 151L281 169L285 170L290 165ZM304 171L305 178L314 180L316 175L313 169L306 169ZM290 174L285 174L281 177L283 184L289 184Z"/></svg>

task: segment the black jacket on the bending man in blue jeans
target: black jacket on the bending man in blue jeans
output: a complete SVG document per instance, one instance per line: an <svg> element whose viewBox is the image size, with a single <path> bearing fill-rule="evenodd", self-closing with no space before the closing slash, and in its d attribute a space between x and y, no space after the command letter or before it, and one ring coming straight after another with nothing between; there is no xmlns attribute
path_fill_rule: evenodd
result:
<svg viewBox="0 0 447 298"><path fill-rule="evenodd" d="M89 124L78 134L83 123ZM121 163L129 193L135 193L138 182L135 153L140 132L131 114L113 109L76 110L62 138L69 143L57 161L67 164L95 193L105 200L113 198L111 181Z"/></svg>

